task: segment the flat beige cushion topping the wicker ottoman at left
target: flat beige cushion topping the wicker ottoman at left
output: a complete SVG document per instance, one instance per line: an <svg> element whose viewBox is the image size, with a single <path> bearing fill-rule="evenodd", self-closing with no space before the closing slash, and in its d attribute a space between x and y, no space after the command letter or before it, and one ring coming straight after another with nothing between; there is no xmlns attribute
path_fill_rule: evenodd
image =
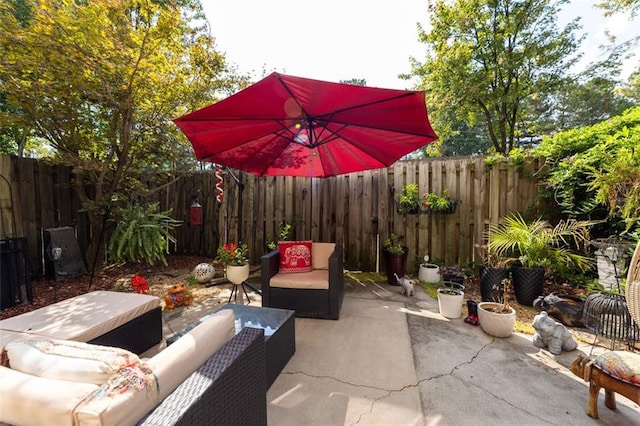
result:
<svg viewBox="0 0 640 426"><path fill-rule="evenodd" d="M92 291L0 321L0 330L88 342L160 306L155 296Z"/></svg>

